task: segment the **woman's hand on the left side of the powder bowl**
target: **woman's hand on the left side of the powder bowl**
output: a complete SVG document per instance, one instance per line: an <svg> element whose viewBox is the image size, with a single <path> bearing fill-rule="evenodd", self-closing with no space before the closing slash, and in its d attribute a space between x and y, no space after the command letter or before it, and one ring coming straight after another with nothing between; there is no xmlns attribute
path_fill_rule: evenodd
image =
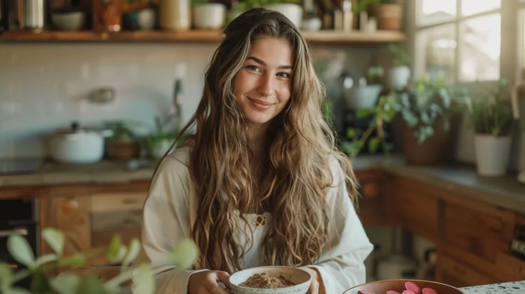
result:
<svg viewBox="0 0 525 294"><path fill-rule="evenodd" d="M226 290L221 289L219 286L219 282L222 282L226 288L230 288L228 278L229 274L226 271L199 271L190 276L188 294L228 294Z"/></svg>

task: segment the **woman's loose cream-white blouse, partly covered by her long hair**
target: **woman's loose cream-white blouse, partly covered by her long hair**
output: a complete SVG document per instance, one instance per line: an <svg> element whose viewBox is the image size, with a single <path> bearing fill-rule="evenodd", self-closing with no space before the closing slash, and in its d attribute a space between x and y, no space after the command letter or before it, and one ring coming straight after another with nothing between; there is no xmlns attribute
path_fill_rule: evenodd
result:
<svg viewBox="0 0 525 294"><path fill-rule="evenodd" d="M197 213L195 189L188 170L190 151L191 147L179 147L162 160L144 204L142 245L154 269L157 294L186 294L190 275L206 270L178 270L169 264L168 258L178 241L191 238ZM328 294L339 294L365 282L364 260L372 252L373 245L355 213L346 191L343 170L335 159L331 160L331 170L333 184L327 188L327 202L331 210L330 241L334 245L323 252L318 264L308 267L319 271ZM271 219L269 213L265 216ZM268 226L256 226L255 217L256 214L246 215L254 242L241 260L241 269L261 265L261 243ZM243 223L240 217L238 221ZM240 246L246 243L241 239Z"/></svg>

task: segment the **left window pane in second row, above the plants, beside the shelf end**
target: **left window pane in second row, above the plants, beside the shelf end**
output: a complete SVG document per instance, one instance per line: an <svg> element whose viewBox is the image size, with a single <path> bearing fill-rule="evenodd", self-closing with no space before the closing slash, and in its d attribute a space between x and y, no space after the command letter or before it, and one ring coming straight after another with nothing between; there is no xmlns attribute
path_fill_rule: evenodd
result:
<svg viewBox="0 0 525 294"><path fill-rule="evenodd" d="M455 80L456 26L448 24L423 29L416 34L415 73L444 74L450 82Z"/></svg>

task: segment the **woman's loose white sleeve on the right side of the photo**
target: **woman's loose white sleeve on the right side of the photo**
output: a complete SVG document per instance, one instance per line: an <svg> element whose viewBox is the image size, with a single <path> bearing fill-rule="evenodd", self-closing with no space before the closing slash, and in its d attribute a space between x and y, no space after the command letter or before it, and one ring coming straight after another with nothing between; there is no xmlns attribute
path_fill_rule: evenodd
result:
<svg viewBox="0 0 525 294"><path fill-rule="evenodd" d="M346 191L344 173L337 160L331 160L331 169L333 184L327 195L331 248L323 252L318 264L308 266L319 271L327 294L364 284L364 260L373 250Z"/></svg>

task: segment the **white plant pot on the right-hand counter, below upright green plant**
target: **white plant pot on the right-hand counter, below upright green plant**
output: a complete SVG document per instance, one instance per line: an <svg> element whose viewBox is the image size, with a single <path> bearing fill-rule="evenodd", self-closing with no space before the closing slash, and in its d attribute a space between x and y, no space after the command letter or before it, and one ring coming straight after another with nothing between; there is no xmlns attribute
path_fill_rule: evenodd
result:
<svg viewBox="0 0 525 294"><path fill-rule="evenodd" d="M480 176L498 177L507 173L511 137L476 135L476 165Z"/></svg>

